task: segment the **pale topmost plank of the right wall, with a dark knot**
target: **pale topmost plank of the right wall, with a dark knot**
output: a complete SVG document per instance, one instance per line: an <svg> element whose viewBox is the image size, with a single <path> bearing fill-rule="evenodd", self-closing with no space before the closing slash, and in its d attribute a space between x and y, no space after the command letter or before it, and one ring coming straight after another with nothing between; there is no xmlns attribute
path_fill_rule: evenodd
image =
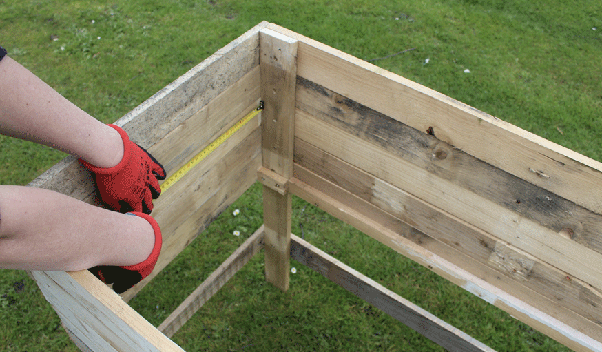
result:
<svg viewBox="0 0 602 352"><path fill-rule="evenodd" d="M268 28L298 39L299 76L602 214L602 163L301 34Z"/></svg>

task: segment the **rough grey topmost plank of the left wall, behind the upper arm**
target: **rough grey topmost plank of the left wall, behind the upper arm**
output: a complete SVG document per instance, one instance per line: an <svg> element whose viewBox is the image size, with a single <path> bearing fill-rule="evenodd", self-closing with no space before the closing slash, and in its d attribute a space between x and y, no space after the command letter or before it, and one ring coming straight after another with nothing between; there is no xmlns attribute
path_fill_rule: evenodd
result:
<svg viewBox="0 0 602 352"><path fill-rule="evenodd" d="M132 141L149 149L198 112L211 99L259 65L258 32L262 22L238 37L147 101L116 121ZM232 65L236 62L236 65ZM166 162L167 163L167 162ZM94 200L94 178L76 158L68 156L30 183L76 199ZM101 205L100 203L94 203Z"/></svg>

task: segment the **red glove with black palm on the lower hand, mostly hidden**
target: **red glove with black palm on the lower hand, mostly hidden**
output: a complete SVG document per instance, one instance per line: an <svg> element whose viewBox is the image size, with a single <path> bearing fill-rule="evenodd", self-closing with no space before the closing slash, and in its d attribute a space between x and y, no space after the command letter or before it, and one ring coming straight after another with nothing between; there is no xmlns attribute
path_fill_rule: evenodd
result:
<svg viewBox="0 0 602 352"><path fill-rule="evenodd" d="M127 213L136 216L140 216L147 220L155 230L155 246L150 256L143 262L136 265L128 265L124 267L114 267L110 265L101 265L88 269L91 273L100 279L105 284L113 284L113 291L116 293L123 293L128 289L131 289L134 284L141 282L143 278L152 273L159 253L161 252L161 229L154 218L143 213Z"/></svg>

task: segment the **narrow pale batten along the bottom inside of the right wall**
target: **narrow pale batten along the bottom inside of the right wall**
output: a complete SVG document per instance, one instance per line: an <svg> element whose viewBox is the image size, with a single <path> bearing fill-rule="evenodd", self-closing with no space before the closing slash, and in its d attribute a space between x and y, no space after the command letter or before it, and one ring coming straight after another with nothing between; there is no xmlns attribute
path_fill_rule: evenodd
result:
<svg viewBox="0 0 602 352"><path fill-rule="evenodd" d="M336 186L333 185L333 187ZM304 200L307 200L307 202L320 207L320 209L323 209L336 218L349 223L356 229L364 232L364 234L375 238L398 253L402 253L415 262L428 267L428 269L434 271L439 276L486 300L486 302L504 309L504 311L507 311L512 316L519 316L526 324L565 344L565 346L577 351L602 351L602 342L594 339L599 337L600 334L592 333L592 331L599 331L599 327L596 327L595 324L591 323L589 326L581 326L580 329L575 329L565 322L554 318L554 316L536 307L532 307L530 304L513 296L512 293L493 286L483 278L474 276L441 256L408 240L408 238L404 237L403 226L400 229L395 226L398 222L391 223L384 220L383 216L386 214L383 211L365 203L363 200L356 198L353 206L341 203L295 177L290 180L289 191L295 194L295 196L300 196ZM356 206L361 207L364 211L358 211L355 209ZM365 211L366 209L369 211ZM399 233L399 231L402 231L402 233ZM459 255L461 256L461 254ZM466 264L468 262L464 263L464 265ZM567 312L568 315L570 313L572 312ZM572 314L576 315L575 313ZM575 318L578 319L579 316Z"/></svg>

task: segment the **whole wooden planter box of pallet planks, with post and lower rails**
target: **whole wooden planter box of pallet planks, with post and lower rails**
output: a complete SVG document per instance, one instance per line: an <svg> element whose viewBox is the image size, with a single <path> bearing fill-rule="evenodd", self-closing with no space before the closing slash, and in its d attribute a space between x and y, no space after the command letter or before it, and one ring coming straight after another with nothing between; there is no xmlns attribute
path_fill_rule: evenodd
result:
<svg viewBox="0 0 602 352"><path fill-rule="evenodd" d="M602 164L403 77L260 23L117 125L168 176L265 109L155 203L163 251L123 297L87 271L32 276L84 351L181 351L167 336L260 249L289 258L450 351L487 346L291 235L291 194L577 351L602 351ZM161 324L127 300L259 180L264 226ZM31 184L98 204L66 158Z"/></svg>

